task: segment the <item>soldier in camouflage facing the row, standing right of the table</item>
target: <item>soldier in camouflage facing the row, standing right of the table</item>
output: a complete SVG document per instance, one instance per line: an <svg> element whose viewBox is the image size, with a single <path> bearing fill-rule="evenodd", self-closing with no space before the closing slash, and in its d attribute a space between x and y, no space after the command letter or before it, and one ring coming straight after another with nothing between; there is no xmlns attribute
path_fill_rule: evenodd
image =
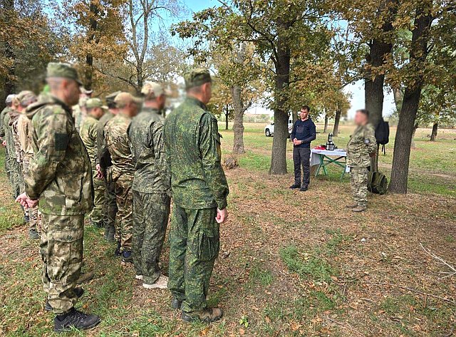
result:
<svg viewBox="0 0 456 337"><path fill-rule="evenodd" d="M368 204L368 167L371 156L376 154L375 131L368 123L368 110L356 111L356 129L347 145L347 165L350 167L351 192L354 204L348 204L353 212L364 212Z"/></svg>

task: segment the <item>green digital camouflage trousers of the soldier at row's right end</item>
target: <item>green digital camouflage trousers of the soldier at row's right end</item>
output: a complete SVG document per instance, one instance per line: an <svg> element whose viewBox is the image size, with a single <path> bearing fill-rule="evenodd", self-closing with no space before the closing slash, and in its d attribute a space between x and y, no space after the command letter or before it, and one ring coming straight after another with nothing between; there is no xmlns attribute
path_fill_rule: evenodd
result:
<svg viewBox="0 0 456 337"><path fill-rule="evenodd" d="M216 215L216 208L173 206L168 289L176 299L183 301L182 311L199 311L207 307L209 280L220 248Z"/></svg>

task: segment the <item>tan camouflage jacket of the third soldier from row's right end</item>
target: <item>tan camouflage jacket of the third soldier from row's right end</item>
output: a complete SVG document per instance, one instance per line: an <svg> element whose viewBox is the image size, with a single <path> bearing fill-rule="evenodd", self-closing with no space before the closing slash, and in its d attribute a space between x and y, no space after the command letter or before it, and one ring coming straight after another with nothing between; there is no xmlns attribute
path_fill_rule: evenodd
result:
<svg viewBox="0 0 456 337"><path fill-rule="evenodd" d="M105 138L108 150L113 160L113 179L120 174L131 174L135 172L133 156L130 150L127 130L131 118L119 113L109 120L105 126Z"/></svg>

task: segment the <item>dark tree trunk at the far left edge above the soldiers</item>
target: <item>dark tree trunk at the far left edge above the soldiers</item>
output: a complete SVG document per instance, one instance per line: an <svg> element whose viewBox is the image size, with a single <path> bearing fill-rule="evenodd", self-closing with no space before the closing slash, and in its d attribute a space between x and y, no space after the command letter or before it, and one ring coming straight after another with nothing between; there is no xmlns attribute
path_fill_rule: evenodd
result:
<svg viewBox="0 0 456 337"><path fill-rule="evenodd" d="M11 21L11 15L14 13L14 0L3 0L1 1L1 4L4 9L2 15L5 16L5 23L7 24L6 26L8 26L8 23ZM6 34L4 56L6 59L12 61L12 66L8 68L8 72L4 78L4 97L1 98L0 102L1 110L5 107L6 97L16 92L16 84L14 83L14 78L16 76L16 56L14 55L13 46L9 43L9 38L10 36Z"/></svg>

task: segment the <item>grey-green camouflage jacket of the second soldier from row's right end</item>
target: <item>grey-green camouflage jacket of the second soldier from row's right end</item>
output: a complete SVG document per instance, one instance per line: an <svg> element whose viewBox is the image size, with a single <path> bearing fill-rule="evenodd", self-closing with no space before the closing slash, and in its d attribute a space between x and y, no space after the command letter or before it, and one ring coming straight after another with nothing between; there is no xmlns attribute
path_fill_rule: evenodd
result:
<svg viewBox="0 0 456 337"><path fill-rule="evenodd" d="M143 193L169 193L170 175L165 160L162 128L165 118L157 109L142 108L128 128L135 164L133 190Z"/></svg>

